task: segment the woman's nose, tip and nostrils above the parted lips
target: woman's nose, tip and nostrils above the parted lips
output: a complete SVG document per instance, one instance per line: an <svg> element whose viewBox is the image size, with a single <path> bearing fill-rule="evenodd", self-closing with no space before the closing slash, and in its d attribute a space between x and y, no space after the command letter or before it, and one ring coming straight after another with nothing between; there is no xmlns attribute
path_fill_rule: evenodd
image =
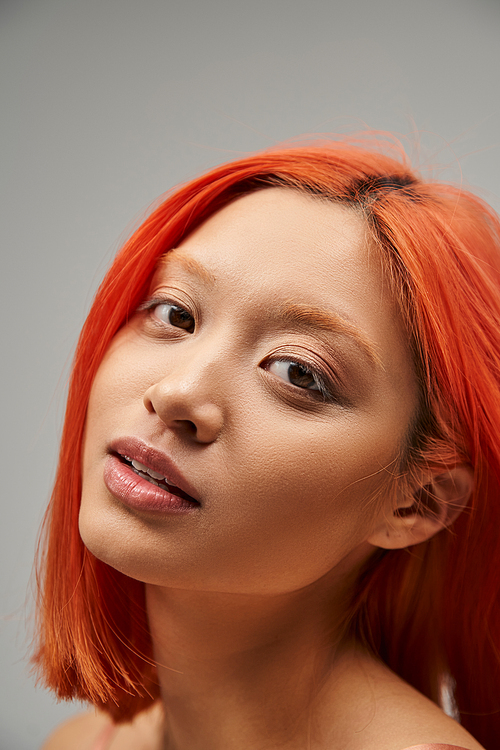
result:
<svg viewBox="0 0 500 750"><path fill-rule="evenodd" d="M199 443L214 442L224 423L217 369L210 358L205 362L176 361L147 389L144 406L170 429Z"/></svg>

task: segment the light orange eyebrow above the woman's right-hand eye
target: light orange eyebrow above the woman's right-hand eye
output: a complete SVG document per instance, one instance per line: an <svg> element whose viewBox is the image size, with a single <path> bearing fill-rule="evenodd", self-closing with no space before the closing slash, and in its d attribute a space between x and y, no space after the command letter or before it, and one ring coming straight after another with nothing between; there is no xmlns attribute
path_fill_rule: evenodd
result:
<svg viewBox="0 0 500 750"><path fill-rule="evenodd" d="M286 302L278 311L278 318L287 325L305 330L315 328L328 333L342 334L353 339L373 365L382 366L377 347L354 323L313 305Z"/></svg>

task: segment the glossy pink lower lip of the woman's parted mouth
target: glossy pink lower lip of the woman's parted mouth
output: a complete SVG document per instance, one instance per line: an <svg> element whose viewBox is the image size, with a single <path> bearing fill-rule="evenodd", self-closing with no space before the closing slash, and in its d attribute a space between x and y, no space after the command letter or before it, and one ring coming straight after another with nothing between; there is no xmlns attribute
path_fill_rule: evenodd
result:
<svg viewBox="0 0 500 750"><path fill-rule="evenodd" d="M134 510L179 514L189 513L200 507L195 501L191 502L151 484L116 456L108 456L106 459L104 484L114 497Z"/></svg>

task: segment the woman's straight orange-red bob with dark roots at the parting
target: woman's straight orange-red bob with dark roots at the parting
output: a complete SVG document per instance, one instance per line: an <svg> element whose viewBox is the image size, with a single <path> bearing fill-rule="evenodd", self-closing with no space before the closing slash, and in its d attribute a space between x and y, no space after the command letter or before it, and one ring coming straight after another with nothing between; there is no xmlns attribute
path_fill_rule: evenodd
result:
<svg viewBox="0 0 500 750"><path fill-rule="evenodd" d="M363 212L422 384L406 473L422 463L439 469L464 461L475 471L470 506L449 531L370 560L350 626L433 700L451 678L462 724L493 750L500 736L500 223L470 193L422 181L398 147L388 156L380 144L321 142L223 164L167 197L118 253L75 355L45 519L35 665L59 697L89 700L117 721L159 696L144 585L96 559L78 532L89 393L158 258L235 197L270 185Z"/></svg>

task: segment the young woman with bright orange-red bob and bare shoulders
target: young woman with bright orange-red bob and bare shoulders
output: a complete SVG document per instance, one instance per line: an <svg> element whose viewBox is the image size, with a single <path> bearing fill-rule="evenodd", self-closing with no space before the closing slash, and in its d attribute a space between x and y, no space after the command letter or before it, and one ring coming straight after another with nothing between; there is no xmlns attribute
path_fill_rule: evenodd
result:
<svg viewBox="0 0 500 750"><path fill-rule="evenodd" d="M500 225L383 147L224 164L118 254L35 656L98 710L47 750L498 747Z"/></svg>

